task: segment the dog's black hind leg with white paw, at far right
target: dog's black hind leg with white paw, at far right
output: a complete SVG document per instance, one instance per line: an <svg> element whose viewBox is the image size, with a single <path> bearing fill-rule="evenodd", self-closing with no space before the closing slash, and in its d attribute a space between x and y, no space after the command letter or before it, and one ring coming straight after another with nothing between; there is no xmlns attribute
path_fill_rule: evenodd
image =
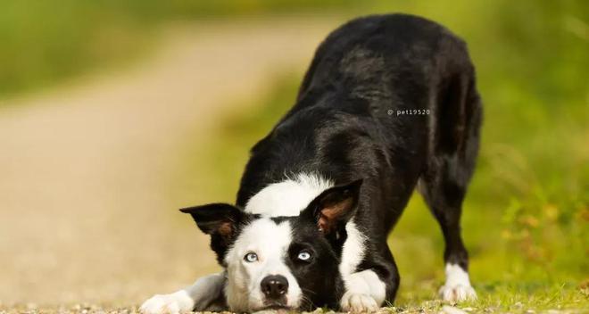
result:
<svg viewBox="0 0 589 314"><path fill-rule="evenodd" d="M470 285L469 254L460 235L460 215L475 169L482 120L468 53L461 45L455 50L463 55L448 64L448 69L456 67L457 74L440 85L435 116L430 120L429 160L418 184L444 234L446 282L439 293L451 302L477 298Z"/></svg>

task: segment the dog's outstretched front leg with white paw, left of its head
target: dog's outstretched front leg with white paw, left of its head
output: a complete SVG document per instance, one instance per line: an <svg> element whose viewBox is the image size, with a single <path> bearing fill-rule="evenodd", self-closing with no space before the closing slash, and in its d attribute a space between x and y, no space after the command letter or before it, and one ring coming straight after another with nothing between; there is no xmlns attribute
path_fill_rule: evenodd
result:
<svg viewBox="0 0 589 314"><path fill-rule="evenodd" d="M192 310L208 310L212 303L222 296L224 285L224 272L201 277L195 284L175 293L153 295L139 310L144 314L177 314Z"/></svg>

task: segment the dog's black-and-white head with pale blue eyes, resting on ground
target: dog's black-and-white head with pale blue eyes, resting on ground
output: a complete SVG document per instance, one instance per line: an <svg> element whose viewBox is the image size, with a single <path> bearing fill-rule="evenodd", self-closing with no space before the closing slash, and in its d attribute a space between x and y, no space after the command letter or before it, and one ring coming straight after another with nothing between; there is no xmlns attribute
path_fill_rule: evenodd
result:
<svg viewBox="0 0 589 314"><path fill-rule="evenodd" d="M230 310L306 310L335 305L341 297L338 266L360 186L358 180L328 188L296 217L261 217L225 203L181 211L211 236L228 272Z"/></svg>

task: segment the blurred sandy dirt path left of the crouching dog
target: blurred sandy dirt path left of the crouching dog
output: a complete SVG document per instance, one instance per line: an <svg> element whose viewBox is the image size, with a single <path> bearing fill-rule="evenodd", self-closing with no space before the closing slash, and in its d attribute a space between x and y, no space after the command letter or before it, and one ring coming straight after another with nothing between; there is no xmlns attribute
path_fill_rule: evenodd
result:
<svg viewBox="0 0 589 314"><path fill-rule="evenodd" d="M0 106L0 303L140 302L215 269L204 237L172 223L173 163L336 24L174 26L132 70Z"/></svg>

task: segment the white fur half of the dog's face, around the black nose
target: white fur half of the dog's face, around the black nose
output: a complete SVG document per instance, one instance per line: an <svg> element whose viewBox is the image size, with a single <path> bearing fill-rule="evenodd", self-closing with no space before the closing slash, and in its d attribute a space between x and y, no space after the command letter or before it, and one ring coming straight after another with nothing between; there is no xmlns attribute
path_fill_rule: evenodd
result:
<svg viewBox="0 0 589 314"><path fill-rule="evenodd" d="M285 263L291 242L292 228L288 221L277 225L271 219L262 218L242 230L225 257L228 265L225 295L230 310L261 310L264 307L261 280L269 275L282 275L288 280L286 306L297 308L300 305L301 288ZM244 256L248 252L255 252L258 260L245 261Z"/></svg>

